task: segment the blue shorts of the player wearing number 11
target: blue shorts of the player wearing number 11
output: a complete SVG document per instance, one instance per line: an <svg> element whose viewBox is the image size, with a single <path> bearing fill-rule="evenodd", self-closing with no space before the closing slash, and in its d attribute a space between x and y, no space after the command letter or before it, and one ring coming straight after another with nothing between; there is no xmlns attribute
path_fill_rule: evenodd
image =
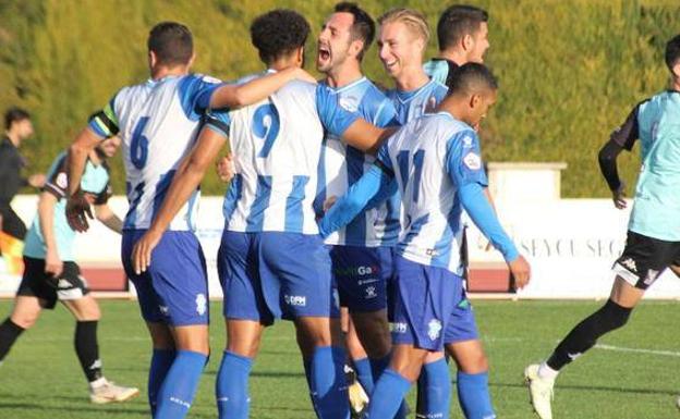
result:
<svg viewBox="0 0 680 419"><path fill-rule="evenodd" d="M462 278L401 256L394 270L392 343L444 350L445 344L476 338Z"/></svg>

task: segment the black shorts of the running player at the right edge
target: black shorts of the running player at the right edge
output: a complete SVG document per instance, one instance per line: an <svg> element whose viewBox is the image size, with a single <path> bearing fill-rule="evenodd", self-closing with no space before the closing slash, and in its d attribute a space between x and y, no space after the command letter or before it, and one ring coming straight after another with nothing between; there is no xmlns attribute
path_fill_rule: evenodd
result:
<svg viewBox="0 0 680 419"><path fill-rule="evenodd" d="M666 242L628 232L623 254L614 271L640 289L648 288L671 264L680 264L680 242Z"/></svg>

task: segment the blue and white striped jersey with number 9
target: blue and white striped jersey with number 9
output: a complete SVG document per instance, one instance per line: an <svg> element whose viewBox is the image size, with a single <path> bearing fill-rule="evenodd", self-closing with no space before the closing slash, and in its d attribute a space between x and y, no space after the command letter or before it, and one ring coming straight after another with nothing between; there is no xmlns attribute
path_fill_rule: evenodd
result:
<svg viewBox="0 0 680 419"><path fill-rule="evenodd" d="M212 112L207 126L229 138L235 156L224 227L317 234L313 201L324 130L341 136L357 118L329 87L299 81L258 103Z"/></svg>

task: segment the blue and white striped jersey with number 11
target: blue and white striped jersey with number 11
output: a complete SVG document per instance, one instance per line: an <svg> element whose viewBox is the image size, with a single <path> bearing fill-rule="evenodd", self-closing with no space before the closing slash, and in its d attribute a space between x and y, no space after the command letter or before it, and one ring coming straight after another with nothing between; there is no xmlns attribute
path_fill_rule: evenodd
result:
<svg viewBox="0 0 680 419"><path fill-rule="evenodd" d="M415 119L389 138L378 164L393 171L405 223L398 251L404 258L462 274L462 207L457 190L487 185L477 134L447 112Z"/></svg>

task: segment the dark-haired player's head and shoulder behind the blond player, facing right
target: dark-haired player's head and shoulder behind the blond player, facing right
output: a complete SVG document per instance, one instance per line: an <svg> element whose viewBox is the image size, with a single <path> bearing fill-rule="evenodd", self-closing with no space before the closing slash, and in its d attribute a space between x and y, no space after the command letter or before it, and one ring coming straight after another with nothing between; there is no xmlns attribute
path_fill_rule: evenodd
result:
<svg viewBox="0 0 680 419"><path fill-rule="evenodd" d="M447 8L437 23L439 56L425 63L425 72L447 86L453 71L467 62L484 62L489 48L488 13L474 5Z"/></svg>

